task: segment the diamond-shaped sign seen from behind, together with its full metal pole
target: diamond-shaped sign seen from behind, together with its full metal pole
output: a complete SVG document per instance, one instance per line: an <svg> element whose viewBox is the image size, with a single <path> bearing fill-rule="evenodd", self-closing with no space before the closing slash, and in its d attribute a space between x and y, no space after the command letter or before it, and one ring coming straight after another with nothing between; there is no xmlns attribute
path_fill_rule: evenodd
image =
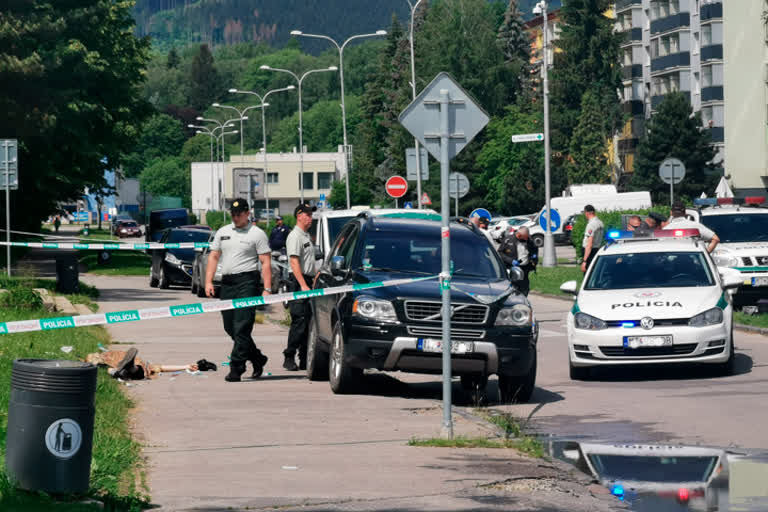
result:
<svg viewBox="0 0 768 512"><path fill-rule="evenodd" d="M442 226L443 435L453 437L451 419L451 229L450 161L488 124L488 114L448 73L438 74L400 114L400 123L440 161Z"/></svg>

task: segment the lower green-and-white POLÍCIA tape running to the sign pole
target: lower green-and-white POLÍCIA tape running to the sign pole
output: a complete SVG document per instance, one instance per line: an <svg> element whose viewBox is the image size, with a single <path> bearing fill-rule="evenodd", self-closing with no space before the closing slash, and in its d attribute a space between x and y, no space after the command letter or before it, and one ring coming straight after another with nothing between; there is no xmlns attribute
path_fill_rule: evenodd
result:
<svg viewBox="0 0 768 512"><path fill-rule="evenodd" d="M138 322L142 320L156 320L160 318L176 318L217 311L229 311L232 309L252 308L266 304L290 302L294 300L309 299L312 297L327 297L360 290L398 286L436 279L439 276L413 277L405 279L390 279L387 281L374 281L371 283L358 283L352 285L337 286L334 288L321 288L303 292L279 293L258 297L245 297L241 299L214 300L198 302L195 304L180 304L177 306L163 306L150 309L129 309L112 313L97 313L93 315L60 316L53 318L39 318L34 320L19 320L15 322L0 322L0 334L13 334L17 332L50 331L53 329L67 329L71 327L86 327L89 325L109 325L126 322Z"/></svg>

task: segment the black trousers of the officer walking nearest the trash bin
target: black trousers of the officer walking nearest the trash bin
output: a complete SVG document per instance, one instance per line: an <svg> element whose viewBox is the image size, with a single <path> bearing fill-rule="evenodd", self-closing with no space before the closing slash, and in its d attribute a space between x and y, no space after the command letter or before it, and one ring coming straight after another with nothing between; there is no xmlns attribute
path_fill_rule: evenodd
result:
<svg viewBox="0 0 768 512"><path fill-rule="evenodd" d="M227 274L221 278L221 299L242 299L257 297L264 291L259 271ZM235 364L245 364L253 361L261 351L256 348L251 332L256 316L256 308L239 308L222 311L224 330L232 338L232 354L230 360Z"/></svg>

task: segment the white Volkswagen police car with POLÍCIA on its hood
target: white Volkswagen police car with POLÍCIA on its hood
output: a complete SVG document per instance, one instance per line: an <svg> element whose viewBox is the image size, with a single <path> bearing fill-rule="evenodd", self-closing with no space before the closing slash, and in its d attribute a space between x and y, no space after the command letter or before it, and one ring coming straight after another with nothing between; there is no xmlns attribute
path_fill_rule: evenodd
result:
<svg viewBox="0 0 768 512"><path fill-rule="evenodd" d="M568 314L572 379L590 368L626 364L709 363L732 373L730 290L741 284L718 269L696 229L657 230L653 237L609 231ZM722 273L721 273L722 272Z"/></svg>

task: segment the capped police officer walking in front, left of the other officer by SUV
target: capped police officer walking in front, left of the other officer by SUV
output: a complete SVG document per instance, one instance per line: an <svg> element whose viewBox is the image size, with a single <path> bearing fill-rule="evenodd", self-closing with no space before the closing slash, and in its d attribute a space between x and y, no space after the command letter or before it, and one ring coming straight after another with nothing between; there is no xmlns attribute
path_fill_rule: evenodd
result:
<svg viewBox="0 0 768 512"><path fill-rule="evenodd" d="M213 275L221 259L221 298L237 299L267 295L272 289L271 252L267 235L248 221L248 201L236 199L230 208L232 224L216 231L205 269L205 293L213 297ZM264 371L267 356L256 348L251 337L255 308L222 311L224 330L232 338L228 382L239 382L245 362L253 364L252 378Z"/></svg>

